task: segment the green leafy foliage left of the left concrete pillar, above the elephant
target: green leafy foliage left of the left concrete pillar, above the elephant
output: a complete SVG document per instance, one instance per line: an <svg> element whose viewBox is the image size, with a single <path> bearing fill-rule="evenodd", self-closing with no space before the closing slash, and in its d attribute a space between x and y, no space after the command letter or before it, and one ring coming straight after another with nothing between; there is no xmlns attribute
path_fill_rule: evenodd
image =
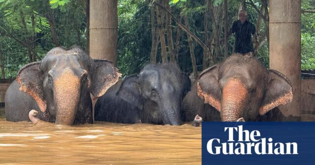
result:
<svg viewBox="0 0 315 165"><path fill-rule="evenodd" d="M15 78L19 68L32 62L29 54L40 60L55 47L52 23L60 45L86 48L85 0L0 0L5 78Z"/></svg>

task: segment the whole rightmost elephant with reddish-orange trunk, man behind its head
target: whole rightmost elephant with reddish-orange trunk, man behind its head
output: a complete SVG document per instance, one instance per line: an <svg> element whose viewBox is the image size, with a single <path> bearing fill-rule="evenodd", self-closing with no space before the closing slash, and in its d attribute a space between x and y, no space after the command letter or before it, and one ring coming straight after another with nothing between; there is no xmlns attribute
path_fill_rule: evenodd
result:
<svg viewBox="0 0 315 165"><path fill-rule="evenodd" d="M199 114L204 121L282 121L277 107L292 99L291 83L282 73L267 70L255 57L231 55L193 83L182 102L183 120Z"/></svg>

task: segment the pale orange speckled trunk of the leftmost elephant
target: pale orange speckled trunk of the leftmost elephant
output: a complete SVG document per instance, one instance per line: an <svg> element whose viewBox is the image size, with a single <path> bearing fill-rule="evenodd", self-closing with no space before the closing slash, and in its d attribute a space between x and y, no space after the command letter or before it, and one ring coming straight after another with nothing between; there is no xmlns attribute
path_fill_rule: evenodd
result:
<svg viewBox="0 0 315 165"><path fill-rule="evenodd" d="M54 100L57 107L55 124L72 125L80 97L80 79L66 69L54 85Z"/></svg>

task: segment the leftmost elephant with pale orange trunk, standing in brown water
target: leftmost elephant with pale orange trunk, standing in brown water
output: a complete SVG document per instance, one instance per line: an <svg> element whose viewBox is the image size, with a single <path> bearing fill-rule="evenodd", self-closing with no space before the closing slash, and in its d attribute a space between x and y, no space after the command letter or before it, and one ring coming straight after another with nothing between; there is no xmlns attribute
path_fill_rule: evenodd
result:
<svg viewBox="0 0 315 165"><path fill-rule="evenodd" d="M78 46L57 47L41 61L22 67L5 95L7 121L29 121L30 110L55 124L93 123L92 99L118 82L121 74L105 59L92 59Z"/></svg>

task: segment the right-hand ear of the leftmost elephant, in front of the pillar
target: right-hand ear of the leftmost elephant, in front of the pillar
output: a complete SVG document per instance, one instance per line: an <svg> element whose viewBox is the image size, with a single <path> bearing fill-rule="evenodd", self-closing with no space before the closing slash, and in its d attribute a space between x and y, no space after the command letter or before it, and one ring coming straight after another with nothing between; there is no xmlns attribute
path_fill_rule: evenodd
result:
<svg viewBox="0 0 315 165"><path fill-rule="evenodd" d="M111 61L94 59L90 91L94 99L102 96L122 76Z"/></svg>

